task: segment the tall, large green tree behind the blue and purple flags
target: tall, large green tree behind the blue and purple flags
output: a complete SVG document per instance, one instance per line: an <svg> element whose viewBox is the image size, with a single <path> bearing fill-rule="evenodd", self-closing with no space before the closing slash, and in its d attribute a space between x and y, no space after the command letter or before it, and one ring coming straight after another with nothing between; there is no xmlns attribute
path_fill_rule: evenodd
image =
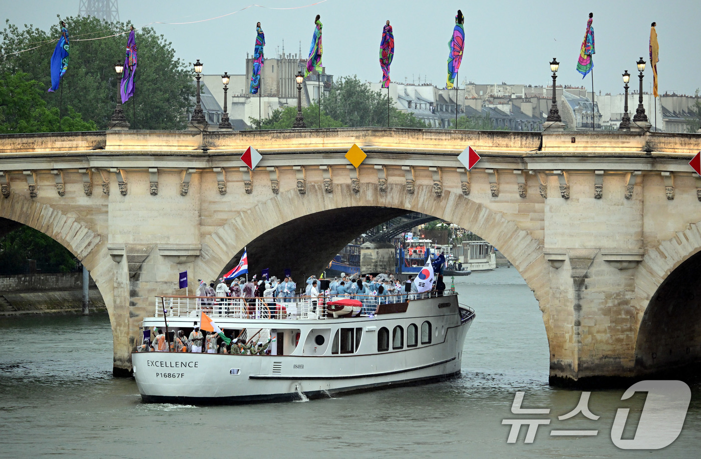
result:
<svg viewBox="0 0 701 459"><path fill-rule="evenodd" d="M0 72L29 73L43 88L40 94L49 110L58 108L62 99L64 106L74 107L83 119L105 129L118 98L114 64L124 62L128 38L125 32L130 23L107 22L92 16L68 17L65 21L70 36L70 62L62 78L62 91L46 92L51 80L49 60L60 36L58 25L43 31L31 25L20 29L6 21L6 28L0 32ZM121 35L111 36L114 34ZM191 68L176 59L171 43L150 27L139 29L136 41L136 97L124 106L132 129L184 128L190 97L195 95ZM20 52L23 50L28 51ZM132 119L132 104L136 104L136 121Z"/></svg>

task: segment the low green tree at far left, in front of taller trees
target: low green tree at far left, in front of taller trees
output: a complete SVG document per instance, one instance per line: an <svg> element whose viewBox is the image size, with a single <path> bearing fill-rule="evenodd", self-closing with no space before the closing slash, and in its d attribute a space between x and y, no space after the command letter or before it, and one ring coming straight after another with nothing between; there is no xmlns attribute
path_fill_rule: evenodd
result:
<svg viewBox="0 0 701 459"><path fill-rule="evenodd" d="M41 99L41 85L29 80L27 73L5 73L0 76L0 134L24 132L95 131L93 121L68 106L59 122L58 108L46 108Z"/></svg>

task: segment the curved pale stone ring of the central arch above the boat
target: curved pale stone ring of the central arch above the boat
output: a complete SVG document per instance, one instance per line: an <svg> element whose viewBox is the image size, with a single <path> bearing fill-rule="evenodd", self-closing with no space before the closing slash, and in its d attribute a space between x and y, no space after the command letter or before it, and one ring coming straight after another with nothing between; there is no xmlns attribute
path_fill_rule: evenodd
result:
<svg viewBox="0 0 701 459"><path fill-rule="evenodd" d="M470 229L492 243L510 260L538 299L550 342L550 265L543 256L540 242L528 231L504 218L502 213L466 198L462 192L444 190L442 197L436 197L431 185L416 184L413 194L407 193L403 183L388 183L386 192L379 191L372 183L361 183L360 192L353 192L351 184L343 183L334 184L332 193L325 192L320 184L308 184L304 195L300 195L296 188L280 190L279 195L246 209L209 236L203 237L202 255L196 262L196 269L203 274L203 278L216 278L225 269L231 269L234 260L238 262L237 258L232 260L233 254L239 253L244 246L275 227L305 216L339 209L352 213L359 208L386 209L388 213L385 215L397 210L425 213ZM261 225L260 222L266 224ZM341 247L348 240L343 240ZM281 247L284 248L284 244Z"/></svg>

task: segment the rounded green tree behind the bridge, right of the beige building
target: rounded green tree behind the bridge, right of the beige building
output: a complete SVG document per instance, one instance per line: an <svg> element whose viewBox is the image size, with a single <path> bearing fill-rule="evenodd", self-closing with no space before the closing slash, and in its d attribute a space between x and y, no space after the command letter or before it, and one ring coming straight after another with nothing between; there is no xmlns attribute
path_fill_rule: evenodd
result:
<svg viewBox="0 0 701 459"><path fill-rule="evenodd" d="M341 76L321 100L321 109L348 127L387 126L388 95L373 91L358 76ZM411 113L390 106L391 127L426 127Z"/></svg>

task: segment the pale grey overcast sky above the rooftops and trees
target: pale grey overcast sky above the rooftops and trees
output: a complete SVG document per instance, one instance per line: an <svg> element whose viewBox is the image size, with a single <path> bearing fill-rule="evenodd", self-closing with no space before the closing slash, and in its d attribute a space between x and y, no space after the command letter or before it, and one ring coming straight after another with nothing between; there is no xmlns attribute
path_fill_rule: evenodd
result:
<svg viewBox="0 0 701 459"><path fill-rule="evenodd" d="M275 8L306 6L319 0L118 0L120 20L137 26L150 22L187 22L232 13L252 1ZM56 15L76 15L79 0L0 0L6 19L48 29ZM701 1L456 1L327 0L308 8L273 10L254 6L239 13L197 24L153 24L172 41L178 57L200 59L204 73L243 73L246 52L252 53L255 24L262 23L266 56L278 48L308 55L313 20L321 15L322 62L335 76L357 74L361 80L381 80L379 43L382 27L390 20L395 35L395 58L390 78L444 87L448 41L456 10L465 15L465 55L458 79L475 83L551 82L548 63L560 62L558 83L586 85L576 71L588 13L594 13L596 55L594 89L597 94L622 92L621 73L633 73L640 56L648 61L650 24L658 23L660 93L693 94L701 87ZM70 29L70 25L69 25ZM126 38L125 38L126 41ZM138 44L138 38L137 38ZM79 46L76 42L74 46ZM53 48L39 48L47 62ZM47 67L48 71L48 67ZM645 71L645 90L652 81ZM635 79L637 84L637 78Z"/></svg>

